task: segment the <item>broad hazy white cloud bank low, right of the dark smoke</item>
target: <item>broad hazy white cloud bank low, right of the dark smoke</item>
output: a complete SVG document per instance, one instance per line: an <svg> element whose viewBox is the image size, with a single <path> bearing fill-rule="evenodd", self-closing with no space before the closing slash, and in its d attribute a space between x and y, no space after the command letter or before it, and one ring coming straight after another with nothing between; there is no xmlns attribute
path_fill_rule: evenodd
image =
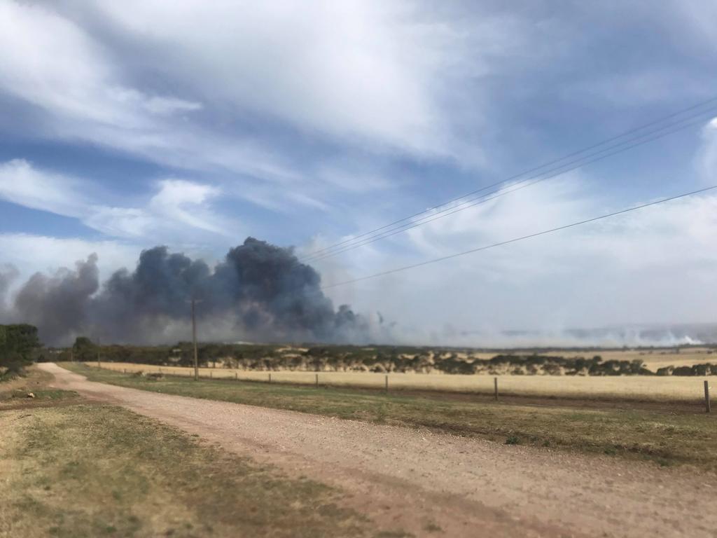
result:
<svg viewBox="0 0 717 538"><path fill-rule="evenodd" d="M587 192L584 179L539 184L395 236L396 244L377 242L317 265L329 284L625 204ZM327 291L359 311L381 311L414 341L431 341L432 331L447 343L460 341L461 331L704 322L717 301L715 237L717 196L706 194ZM399 250L400 241L408 241L407 250ZM463 341L485 344L481 338Z"/></svg>

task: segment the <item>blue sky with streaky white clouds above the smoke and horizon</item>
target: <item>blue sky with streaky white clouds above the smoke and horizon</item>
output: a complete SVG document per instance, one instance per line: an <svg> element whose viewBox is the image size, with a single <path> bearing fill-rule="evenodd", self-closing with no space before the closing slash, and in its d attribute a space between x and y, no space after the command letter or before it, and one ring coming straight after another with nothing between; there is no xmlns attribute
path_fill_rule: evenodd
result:
<svg viewBox="0 0 717 538"><path fill-rule="evenodd" d="M11 295L156 245L308 258L714 98L716 74L709 0L0 0L0 265ZM717 184L702 110L312 265L331 285ZM326 294L416 343L713 323L716 244L708 192Z"/></svg>

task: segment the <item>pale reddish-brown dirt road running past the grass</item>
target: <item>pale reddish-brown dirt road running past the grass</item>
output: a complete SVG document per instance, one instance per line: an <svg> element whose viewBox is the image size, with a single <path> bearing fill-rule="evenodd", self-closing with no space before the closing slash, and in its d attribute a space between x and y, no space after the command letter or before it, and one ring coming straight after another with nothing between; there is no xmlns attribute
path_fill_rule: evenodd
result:
<svg viewBox="0 0 717 538"><path fill-rule="evenodd" d="M161 395L40 367L59 388L338 486L348 505L416 536L717 537L713 475Z"/></svg>

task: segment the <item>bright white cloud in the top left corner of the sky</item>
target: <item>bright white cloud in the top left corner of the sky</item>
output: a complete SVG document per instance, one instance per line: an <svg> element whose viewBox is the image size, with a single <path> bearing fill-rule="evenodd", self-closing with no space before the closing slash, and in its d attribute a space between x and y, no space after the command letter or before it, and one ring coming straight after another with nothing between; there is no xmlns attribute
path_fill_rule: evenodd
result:
<svg viewBox="0 0 717 538"><path fill-rule="evenodd" d="M0 48L13 51L0 61L0 87L65 120L150 128L142 110L168 114L201 108L201 103L145 95L124 85L98 42L42 6L0 4Z"/></svg>

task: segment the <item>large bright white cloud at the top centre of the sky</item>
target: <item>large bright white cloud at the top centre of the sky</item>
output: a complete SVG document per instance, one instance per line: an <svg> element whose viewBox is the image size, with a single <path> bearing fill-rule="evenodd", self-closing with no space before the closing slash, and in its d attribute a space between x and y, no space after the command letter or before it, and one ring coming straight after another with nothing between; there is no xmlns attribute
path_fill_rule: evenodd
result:
<svg viewBox="0 0 717 538"><path fill-rule="evenodd" d="M432 80L455 45L439 24L414 20L407 4L184 1L168 10L130 1L100 11L206 100L302 130L447 150Z"/></svg>

